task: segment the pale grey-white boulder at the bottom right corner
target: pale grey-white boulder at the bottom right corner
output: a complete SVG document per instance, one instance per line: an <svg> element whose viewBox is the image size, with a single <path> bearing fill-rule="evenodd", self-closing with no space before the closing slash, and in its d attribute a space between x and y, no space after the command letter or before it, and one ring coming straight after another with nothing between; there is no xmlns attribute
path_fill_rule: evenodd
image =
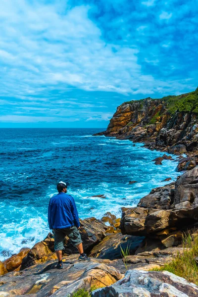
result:
<svg viewBox="0 0 198 297"><path fill-rule="evenodd" d="M168 271L128 270L117 283L95 290L92 297L195 297L198 286Z"/></svg>

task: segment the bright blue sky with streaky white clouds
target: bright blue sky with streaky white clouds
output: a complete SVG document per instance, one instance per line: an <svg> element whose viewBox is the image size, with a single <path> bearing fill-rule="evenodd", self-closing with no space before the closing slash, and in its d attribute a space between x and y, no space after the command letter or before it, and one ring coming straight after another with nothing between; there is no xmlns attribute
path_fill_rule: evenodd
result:
<svg viewBox="0 0 198 297"><path fill-rule="evenodd" d="M1 0L0 127L106 127L198 86L198 0Z"/></svg>

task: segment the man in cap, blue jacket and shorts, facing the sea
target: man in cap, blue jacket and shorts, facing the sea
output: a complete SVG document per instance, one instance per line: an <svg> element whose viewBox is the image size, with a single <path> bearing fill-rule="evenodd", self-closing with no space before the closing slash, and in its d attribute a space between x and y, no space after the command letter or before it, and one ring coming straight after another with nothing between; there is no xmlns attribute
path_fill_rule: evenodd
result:
<svg viewBox="0 0 198 297"><path fill-rule="evenodd" d="M58 194L49 200L48 222L49 229L53 229L54 248L58 258L57 268L62 269L63 241L68 236L72 244L78 248L79 260L90 261L90 258L83 251L83 244L80 236L80 222L74 198L67 195L68 183L57 184Z"/></svg>

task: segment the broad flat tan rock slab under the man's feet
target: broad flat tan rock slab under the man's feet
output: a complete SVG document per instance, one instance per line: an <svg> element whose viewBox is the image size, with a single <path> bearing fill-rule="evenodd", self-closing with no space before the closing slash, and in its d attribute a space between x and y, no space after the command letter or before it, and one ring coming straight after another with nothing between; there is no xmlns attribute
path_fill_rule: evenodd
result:
<svg viewBox="0 0 198 297"><path fill-rule="evenodd" d="M78 255L63 257L63 269L56 269L57 260L10 272L0 278L0 296L46 297L71 296L79 289L109 286L123 275L109 264L109 260L78 261Z"/></svg>

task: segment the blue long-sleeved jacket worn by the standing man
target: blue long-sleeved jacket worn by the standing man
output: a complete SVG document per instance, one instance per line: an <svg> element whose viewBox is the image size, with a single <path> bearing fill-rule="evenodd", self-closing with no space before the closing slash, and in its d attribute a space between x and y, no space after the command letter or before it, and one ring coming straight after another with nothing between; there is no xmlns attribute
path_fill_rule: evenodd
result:
<svg viewBox="0 0 198 297"><path fill-rule="evenodd" d="M78 211L74 198L63 192L49 200L48 207L49 229L80 227Z"/></svg>

